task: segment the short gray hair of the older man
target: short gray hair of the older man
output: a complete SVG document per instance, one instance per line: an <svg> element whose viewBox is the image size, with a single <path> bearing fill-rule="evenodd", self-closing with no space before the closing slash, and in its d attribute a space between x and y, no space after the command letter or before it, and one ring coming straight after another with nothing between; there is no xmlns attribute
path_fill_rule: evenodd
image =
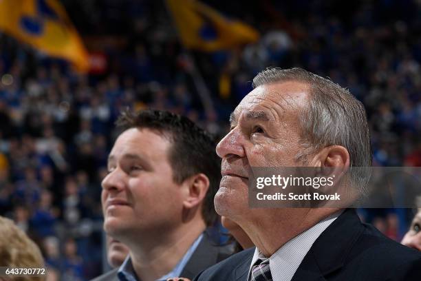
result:
<svg viewBox="0 0 421 281"><path fill-rule="evenodd" d="M370 133L363 103L340 85L298 67L263 70L253 79L253 87L287 81L303 83L310 89L308 108L299 114L305 149L297 159L305 160L309 154L330 145L345 147L351 179L365 194L369 169L355 168L371 167Z"/></svg>

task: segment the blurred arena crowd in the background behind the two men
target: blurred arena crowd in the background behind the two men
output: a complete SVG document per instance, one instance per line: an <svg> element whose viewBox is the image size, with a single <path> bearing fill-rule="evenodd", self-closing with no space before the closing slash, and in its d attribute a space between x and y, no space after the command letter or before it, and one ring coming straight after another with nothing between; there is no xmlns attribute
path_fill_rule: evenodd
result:
<svg viewBox="0 0 421 281"><path fill-rule="evenodd" d="M100 181L126 107L185 114L222 136L259 70L299 66L363 101L374 165L421 165L420 1L203 0L259 32L213 52L180 43L164 1L61 3L94 58L89 72L0 33L0 215L30 233L61 280L105 266ZM412 213L360 214L400 240Z"/></svg>

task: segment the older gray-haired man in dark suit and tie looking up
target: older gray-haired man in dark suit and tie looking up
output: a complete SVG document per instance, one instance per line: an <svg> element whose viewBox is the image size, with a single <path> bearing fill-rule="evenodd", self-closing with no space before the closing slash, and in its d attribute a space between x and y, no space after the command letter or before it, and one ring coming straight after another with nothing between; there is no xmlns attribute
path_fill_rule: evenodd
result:
<svg viewBox="0 0 421 281"><path fill-rule="evenodd" d="M299 68L257 74L254 90L217 145L222 180L215 209L237 222L256 248L196 280L420 280L421 256L360 222L354 209L248 207L252 167L371 165L363 105L332 81ZM352 174L364 185L364 174Z"/></svg>

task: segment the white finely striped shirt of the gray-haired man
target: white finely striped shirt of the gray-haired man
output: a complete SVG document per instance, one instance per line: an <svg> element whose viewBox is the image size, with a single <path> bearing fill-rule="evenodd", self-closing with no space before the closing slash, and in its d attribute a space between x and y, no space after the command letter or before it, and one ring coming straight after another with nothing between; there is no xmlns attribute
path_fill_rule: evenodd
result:
<svg viewBox="0 0 421 281"><path fill-rule="evenodd" d="M296 269L299 268L301 262L303 261L305 255L317 238L321 235L327 227L341 215L342 211L338 211L327 218L321 220L316 225L307 229L303 233L300 233L298 236L295 236L281 248L279 248L272 256L269 258L269 267L270 273L272 274L273 280L279 281L290 281L294 276ZM250 273L252 266L257 262L257 260L266 259L263 256L263 253L259 249L255 249L255 253L250 264L250 269L248 270L248 280L250 280Z"/></svg>

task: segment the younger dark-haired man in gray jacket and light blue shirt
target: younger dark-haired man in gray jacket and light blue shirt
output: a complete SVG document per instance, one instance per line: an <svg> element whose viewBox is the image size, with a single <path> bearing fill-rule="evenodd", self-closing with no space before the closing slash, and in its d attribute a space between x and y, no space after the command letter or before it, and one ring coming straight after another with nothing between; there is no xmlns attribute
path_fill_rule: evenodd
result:
<svg viewBox="0 0 421 281"><path fill-rule="evenodd" d="M164 111L125 112L102 180L107 234L129 248L119 269L96 280L193 278L226 258L205 232L217 218L220 160L210 136Z"/></svg>

